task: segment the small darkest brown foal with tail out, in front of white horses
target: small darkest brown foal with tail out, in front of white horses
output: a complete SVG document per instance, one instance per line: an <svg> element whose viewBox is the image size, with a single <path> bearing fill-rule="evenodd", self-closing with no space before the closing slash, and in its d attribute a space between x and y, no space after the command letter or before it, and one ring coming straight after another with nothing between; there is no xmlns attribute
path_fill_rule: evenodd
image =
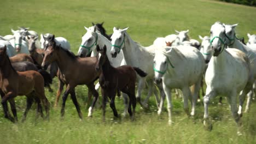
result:
<svg viewBox="0 0 256 144"><path fill-rule="evenodd" d="M135 97L135 83L136 83L136 73L139 76L147 76L144 71L139 68L131 67L130 65L123 65L118 68L112 67L106 55L106 45L104 45L103 50L97 45L97 51L101 53L96 64L96 70L102 71L99 82L101 85L102 93L102 109L103 109L103 119L106 113L106 99L110 99L110 107L113 110L114 116L118 117L117 110L115 109L115 93L120 90L129 96L129 106L128 112L130 116L133 116L136 107L136 97ZM133 112L131 110L131 105L133 107Z"/></svg>

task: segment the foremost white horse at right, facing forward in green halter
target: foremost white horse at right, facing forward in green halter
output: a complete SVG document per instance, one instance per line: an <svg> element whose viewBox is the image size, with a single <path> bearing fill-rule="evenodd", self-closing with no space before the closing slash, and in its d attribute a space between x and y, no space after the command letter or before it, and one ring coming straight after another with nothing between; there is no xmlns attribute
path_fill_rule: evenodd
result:
<svg viewBox="0 0 256 144"><path fill-rule="evenodd" d="M206 95L203 97L205 113L203 115L203 124L212 128L208 119L208 104L210 100L217 95L226 96L231 107L238 128L241 125L242 105L245 101L245 95L251 90L253 83L253 74L250 68L250 62L245 53L236 49L225 49L225 27L222 23L216 22L211 27L211 45L214 49L206 70ZM243 90L240 95L240 106L237 109L237 94ZM240 134L238 129L237 134Z"/></svg>

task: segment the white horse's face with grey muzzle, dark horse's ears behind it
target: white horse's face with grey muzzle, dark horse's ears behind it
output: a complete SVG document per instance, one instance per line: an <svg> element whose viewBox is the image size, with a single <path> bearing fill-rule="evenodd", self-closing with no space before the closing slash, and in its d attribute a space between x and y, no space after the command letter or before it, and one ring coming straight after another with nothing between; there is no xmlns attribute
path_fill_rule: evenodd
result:
<svg viewBox="0 0 256 144"><path fill-rule="evenodd" d="M83 35L82 37L82 43L79 47L78 50L78 56L80 57L86 57L89 56L89 54L91 53L91 51L96 49L96 45L97 45L97 40L98 40L98 35L96 33L96 27L92 26L92 27L84 27L87 32Z"/></svg>

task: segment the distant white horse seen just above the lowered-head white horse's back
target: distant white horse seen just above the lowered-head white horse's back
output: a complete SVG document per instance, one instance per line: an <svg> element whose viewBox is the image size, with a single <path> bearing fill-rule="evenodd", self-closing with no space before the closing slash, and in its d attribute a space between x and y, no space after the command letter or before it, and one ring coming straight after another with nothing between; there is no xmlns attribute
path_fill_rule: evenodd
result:
<svg viewBox="0 0 256 144"><path fill-rule="evenodd" d="M178 34L178 36L177 36L177 38L179 40L178 44L183 43L182 45L194 46L197 49L200 48L201 44L199 41L189 38L189 36L188 36L189 29L187 31L181 31L181 32L175 30L175 32ZM185 43L184 43L184 41L185 41ZM176 46L176 45L172 45L172 46Z"/></svg>

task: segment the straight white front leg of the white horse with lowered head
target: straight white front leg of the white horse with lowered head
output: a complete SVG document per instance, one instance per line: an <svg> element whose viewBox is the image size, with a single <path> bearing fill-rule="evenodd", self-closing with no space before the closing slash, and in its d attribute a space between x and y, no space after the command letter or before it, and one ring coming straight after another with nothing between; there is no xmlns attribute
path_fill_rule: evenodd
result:
<svg viewBox="0 0 256 144"><path fill-rule="evenodd" d="M164 92L166 95L167 100L167 110L168 110L168 124L172 124L172 95L171 95L171 88L168 88L164 83L162 83L164 88ZM160 115L160 113L158 113Z"/></svg>

